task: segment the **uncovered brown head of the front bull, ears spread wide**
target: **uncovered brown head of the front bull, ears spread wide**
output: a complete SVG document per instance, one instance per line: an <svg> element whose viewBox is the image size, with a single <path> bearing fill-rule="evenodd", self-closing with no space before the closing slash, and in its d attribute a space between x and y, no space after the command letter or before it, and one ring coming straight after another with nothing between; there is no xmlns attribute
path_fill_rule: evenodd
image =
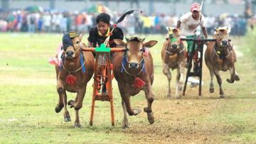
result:
<svg viewBox="0 0 256 144"><path fill-rule="evenodd" d="M127 62L129 63L129 68L138 69L139 65L143 60L143 52L146 48L151 48L156 45L156 40L150 40L147 43L144 43L145 38L126 38L127 43L124 43L122 40L114 39L114 43L120 45L124 48L127 48Z"/></svg>

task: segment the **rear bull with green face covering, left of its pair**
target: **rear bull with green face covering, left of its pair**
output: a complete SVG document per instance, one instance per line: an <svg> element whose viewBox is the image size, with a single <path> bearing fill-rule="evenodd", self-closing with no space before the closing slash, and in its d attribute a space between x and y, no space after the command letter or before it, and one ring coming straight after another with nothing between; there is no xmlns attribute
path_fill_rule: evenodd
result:
<svg viewBox="0 0 256 144"><path fill-rule="evenodd" d="M180 98L178 91L182 90L184 82L184 72L186 67L186 50L180 40L180 33L176 28L168 28L169 38L166 39L161 49L163 62L163 73L168 79L167 97L171 96L171 70L177 69L176 75L176 99Z"/></svg>

